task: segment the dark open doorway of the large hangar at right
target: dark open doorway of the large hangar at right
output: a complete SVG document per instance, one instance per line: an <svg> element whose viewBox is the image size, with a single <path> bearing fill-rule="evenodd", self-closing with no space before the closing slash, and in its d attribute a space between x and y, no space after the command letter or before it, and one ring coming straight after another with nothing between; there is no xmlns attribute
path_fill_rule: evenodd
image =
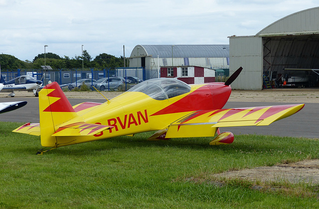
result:
<svg viewBox="0 0 319 209"><path fill-rule="evenodd" d="M264 37L263 72L264 88L319 87L319 35Z"/></svg>

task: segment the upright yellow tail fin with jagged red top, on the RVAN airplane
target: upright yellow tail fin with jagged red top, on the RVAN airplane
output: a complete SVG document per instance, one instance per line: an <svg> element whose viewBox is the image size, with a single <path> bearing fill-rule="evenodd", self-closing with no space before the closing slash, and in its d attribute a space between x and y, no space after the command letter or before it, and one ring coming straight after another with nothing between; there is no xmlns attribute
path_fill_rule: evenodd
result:
<svg viewBox="0 0 319 209"><path fill-rule="evenodd" d="M77 116L57 82L52 82L39 91L39 115L41 145L46 147L56 146L57 139L52 134L57 131L57 125Z"/></svg>

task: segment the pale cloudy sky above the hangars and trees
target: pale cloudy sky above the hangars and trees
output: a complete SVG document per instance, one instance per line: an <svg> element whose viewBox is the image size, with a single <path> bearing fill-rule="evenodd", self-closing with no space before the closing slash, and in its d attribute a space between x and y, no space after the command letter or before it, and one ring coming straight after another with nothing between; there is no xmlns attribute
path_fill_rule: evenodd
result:
<svg viewBox="0 0 319 209"><path fill-rule="evenodd" d="M0 0L0 53L130 57L138 44L229 44L316 0Z"/></svg>

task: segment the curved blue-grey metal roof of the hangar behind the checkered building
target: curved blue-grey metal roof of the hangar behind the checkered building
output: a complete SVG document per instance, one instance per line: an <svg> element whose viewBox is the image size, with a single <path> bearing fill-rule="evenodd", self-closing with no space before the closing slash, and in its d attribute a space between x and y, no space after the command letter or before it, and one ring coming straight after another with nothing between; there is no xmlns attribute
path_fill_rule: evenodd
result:
<svg viewBox="0 0 319 209"><path fill-rule="evenodd" d="M138 45L147 56L171 58L222 58L229 57L229 45ZM136 46L135 48L137 48ZM173 46L173 47L172 47ZM172 49L173 48L173 49ZM225 48L225 49L223 49ZM133 53L133 52L132 52ZM131 55L132 57L132 55Z"/></svg>

